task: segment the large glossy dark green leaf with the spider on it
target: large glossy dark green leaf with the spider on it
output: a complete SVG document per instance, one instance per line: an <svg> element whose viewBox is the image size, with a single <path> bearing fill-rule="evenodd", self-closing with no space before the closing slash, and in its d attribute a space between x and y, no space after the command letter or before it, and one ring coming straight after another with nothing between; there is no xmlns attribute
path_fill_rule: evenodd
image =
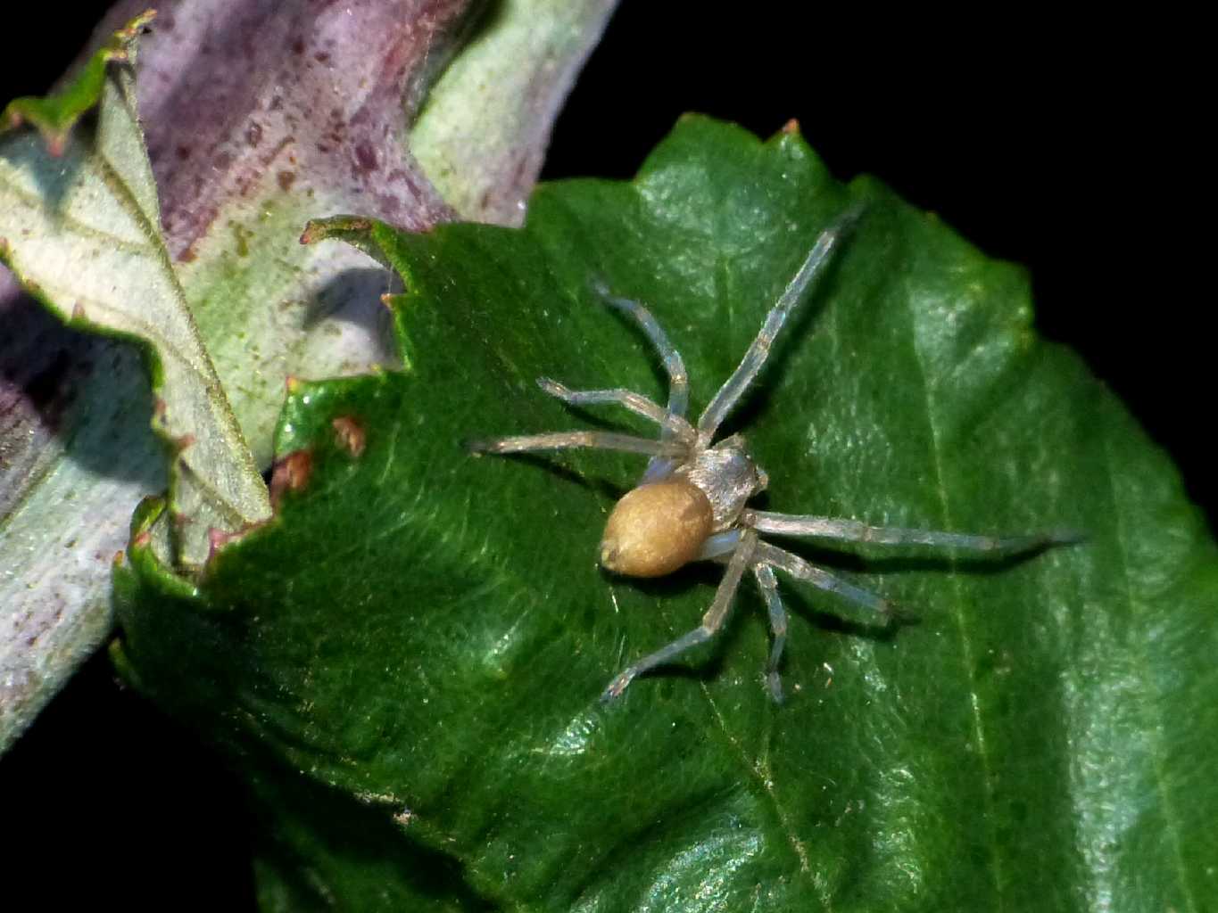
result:
<svg viewBox="0 0 1218 913"><path fill-rule="evenodd" d="M598 704L698 623L719 571L597 568L638 458L459 442L600 421L538 376L663 398L597 278L654 310L697 414L857 201L864 220L726 429L769 471L765 503L1088 540L1000 562L795 544L920 623L885 631L783 581L776 706L745 588L713 645ZM406 279L406 369L291 392L276 516L197 588L140 547L151 505L118 577L128 677L284 823L262 848L268 908L1218 902L1214 547L1119 403L1037 340L1019 269L873 180L837 184L792 133L761 144L698 118L633 183L542 189L521 231L370 223L359 240Z"/></svg>

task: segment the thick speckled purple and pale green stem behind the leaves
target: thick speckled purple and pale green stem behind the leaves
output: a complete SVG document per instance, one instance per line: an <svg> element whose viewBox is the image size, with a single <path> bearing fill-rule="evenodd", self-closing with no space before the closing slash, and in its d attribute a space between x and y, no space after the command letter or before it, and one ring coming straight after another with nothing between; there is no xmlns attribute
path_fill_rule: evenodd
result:
<svg viewBox="0 0 1218 913"><path fill-rule="evenodd" d="M557 107L611 2L501 5L476 29L479 67L452 72L446 63L462 60L482 18L468 0L156 6L133 105L147 142L144 168L151 162L156 180L144 180L144 208L160 202L162 236L150 243L167 254L264 469L287 376L359 374L395 358L376 301L392 276L357 251L301 246L301 225L361 212L421 230L453 217L407 136L441 74L443 97L420 123L464 144L445 158L445 194L493 201L477 212L484 220L518 219ZM91 44L107 43L145 7L116 2ZM515 40L523 30L530 41ZM71 125L96 102L105 67L104 56L86 55L62 86L67 95L19 100L6 112L41 128L44 138L28 130L19 145L52 177L65 163L45 146L63 151ZM527 94L487 93L488 69L497 85L505 73L524 78ZM17 257L32 225L23 207L46 202L39 186L24 190L21 205L0 207L0 239ZM113 222L84 209L91 223ZM156 219L145 228L156 235ZM65 269L80 259L68 246L44 245L44 253L49 289L80 278ZM166 265L153 268L163 276ZM164 488L138 352L77 329L48 320L0 267L0 751L110 631L111 559L139 499Z"/></svg>

